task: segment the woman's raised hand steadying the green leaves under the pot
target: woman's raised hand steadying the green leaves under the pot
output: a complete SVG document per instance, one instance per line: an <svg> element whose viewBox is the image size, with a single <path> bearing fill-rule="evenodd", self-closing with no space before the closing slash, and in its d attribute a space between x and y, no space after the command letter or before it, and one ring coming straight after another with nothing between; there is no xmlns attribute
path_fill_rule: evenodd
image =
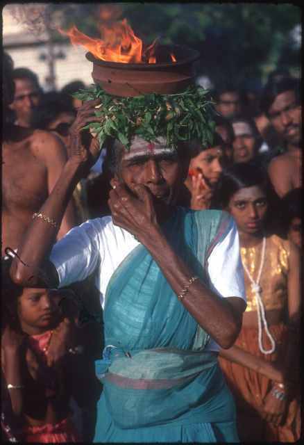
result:
<svg viewBox="0 0 304 445"><path fill-rule="evenodd" d="M69 129L70 143L67 148L69 160L76 163L94 165L99 156L100 144L96 137L88 129L83 129L90 122L99 122L95 115L95 107L100 104L100 99L89 100L78 108L76 119Z"/></svg>

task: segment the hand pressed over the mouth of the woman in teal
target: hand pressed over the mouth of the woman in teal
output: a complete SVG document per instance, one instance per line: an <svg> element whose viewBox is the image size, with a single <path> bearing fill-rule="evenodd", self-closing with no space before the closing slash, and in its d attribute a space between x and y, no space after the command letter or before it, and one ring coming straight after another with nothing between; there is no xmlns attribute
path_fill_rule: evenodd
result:
<svg viewBox="0 0 304 445"><path fill-rule="evenodd" d="M140 241L151 238L153 230L158 229L151 192L137 184L134 192L138 197L135 197L116 179L111 180L111 186L113 189L108 204L113 223L128 230Z"/></svg>

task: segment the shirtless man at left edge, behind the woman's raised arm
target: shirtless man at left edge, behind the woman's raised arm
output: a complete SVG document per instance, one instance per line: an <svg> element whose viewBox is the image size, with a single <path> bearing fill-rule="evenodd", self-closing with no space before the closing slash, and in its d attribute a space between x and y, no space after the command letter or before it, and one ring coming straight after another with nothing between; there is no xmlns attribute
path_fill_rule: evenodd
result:
<svg viewBox="0 0 304 445"><path fill-rule="evenodd" d="M3 55L3 115L14 97L13 63ZM2 139L2 240L1 256L6 247L16 249L24 230L56 184L66 162L60 140L46 131L33 131L15 124L4 124ZM60 226L58 238L76 225L70 203Z"/></svg>

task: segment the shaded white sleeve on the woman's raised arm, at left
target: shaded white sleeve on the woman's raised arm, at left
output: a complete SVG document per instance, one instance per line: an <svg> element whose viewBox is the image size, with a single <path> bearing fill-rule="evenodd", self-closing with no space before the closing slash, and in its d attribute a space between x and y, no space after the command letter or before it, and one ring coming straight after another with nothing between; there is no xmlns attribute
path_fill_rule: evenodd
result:
<svg viewBox="0 0 304 445"><path fill-rule="evenodd" d="M85 280L101 261L103 252L95 221L73 227L53 246L49 259L57 269L59 287Z"/></svg>

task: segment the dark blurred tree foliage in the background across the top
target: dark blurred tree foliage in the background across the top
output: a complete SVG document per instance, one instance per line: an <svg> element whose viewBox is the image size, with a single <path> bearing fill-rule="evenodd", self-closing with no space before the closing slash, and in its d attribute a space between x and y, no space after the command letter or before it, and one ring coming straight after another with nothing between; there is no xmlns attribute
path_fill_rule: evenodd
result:
<svg viewBox="0 0 304 445"><path fill-rule="evenodd" d="M49 3L62 26L98 37L101 3ZM110 3L107 3L110 4ZM213 81L260 78L278 65L299 67L290 32L301 24L292 3L115 3L146 43L187 44L201 52L199 71ZM289 66L288 66L289 65Z"/></svg>

